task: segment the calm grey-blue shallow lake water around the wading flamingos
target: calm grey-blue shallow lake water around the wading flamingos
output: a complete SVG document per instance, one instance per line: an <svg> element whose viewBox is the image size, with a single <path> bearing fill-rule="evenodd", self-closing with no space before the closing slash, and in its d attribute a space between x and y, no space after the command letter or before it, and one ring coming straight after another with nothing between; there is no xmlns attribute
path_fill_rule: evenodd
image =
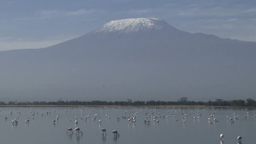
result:
<svg viewBox="0 0 256 144"><path fill-rule="evenodd" d="M242 144L252 144L256 141L254 110L178 108L95 108L95 110L93 108L0 108L0 110L2 144L129 144L131 142L135 144L159 142L237 144L238 136L242 136L240 142ZM81 110L84 110L83 114ZM35 111L34 120L32 119L33 111ZM234 112L236 117L239 115L238 120L234 118ZM95 121L92 120L94 114L98 115ZM158 117L156 120L159 120L159 123L154 122L154 118L148 114ZM201 114L200 118L198 114ZM214 115L218 122L214 122L213 118L209 121L208 114ZM85 119L84 117L88 115L90 117ZM54 124L52 120L56 120L56 116L59 116L59 119ZM75 116L77 116L78 124L75 124ZM136 116L136 122L128 122L128 118L124 119L121 116ZM150 123L144 122L146 116ZM233 118L234 122L230 121L227 116ZM117 120L117 117L120 120ZM15 118L18 121L17 125L12 124ZM27 119L30 120L29 123L25 122ZM74 131L76 127L80 128L83 135L76 135ZM74 134L69 134L69 132L67 134L67 128L73 128ZM102 128L106 128L106 136L102 136ZM118 130L120 136L114 137L113 130ZM222 142L220 134L224 134Z"/></svg>

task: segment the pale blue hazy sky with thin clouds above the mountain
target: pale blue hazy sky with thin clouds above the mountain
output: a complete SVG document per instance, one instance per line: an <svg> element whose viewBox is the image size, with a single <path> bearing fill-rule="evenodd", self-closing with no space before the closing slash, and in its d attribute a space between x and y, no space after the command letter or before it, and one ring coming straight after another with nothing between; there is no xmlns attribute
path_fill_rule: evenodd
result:
<svg viewBox="0 0 256 144"><path fill-rule="evenodd" d="M255 0L0 0L0 50L43 48L110 20L140 17L256 42Z"/></svg>

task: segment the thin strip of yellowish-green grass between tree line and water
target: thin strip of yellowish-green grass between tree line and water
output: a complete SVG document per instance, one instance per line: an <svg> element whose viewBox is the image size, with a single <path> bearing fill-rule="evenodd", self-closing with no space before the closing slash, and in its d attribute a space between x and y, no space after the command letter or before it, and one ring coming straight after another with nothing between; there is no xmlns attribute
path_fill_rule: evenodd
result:
<svg viewBox="0 0 256 144"><path fill-rule="evenodd" d="M0 107L157 107L157 108L256 108L239 106L185 106L185 105L165 105L165 106L119 106L119 105L0 105Z"/></svg>

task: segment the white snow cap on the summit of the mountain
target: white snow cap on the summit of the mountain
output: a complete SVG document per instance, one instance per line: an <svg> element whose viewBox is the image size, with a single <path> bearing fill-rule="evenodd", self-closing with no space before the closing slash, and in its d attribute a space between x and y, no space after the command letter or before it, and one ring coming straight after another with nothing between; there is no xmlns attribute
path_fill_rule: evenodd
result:
<svg viewBox="0 0 256 144"><path fill-rule="evenodd" d="M158 30L170 26L164 20L158 18L129 18L124 20L113 20L102 27L98 28L94 33L99 32L138 32L148 30Z"/></svg>

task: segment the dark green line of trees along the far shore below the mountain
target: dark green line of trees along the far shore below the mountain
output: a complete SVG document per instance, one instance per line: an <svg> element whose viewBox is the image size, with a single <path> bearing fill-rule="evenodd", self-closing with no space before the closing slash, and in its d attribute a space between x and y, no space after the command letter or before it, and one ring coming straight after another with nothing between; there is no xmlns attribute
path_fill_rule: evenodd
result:
<svg viewBox="0 0 256 144"><path fill-rule="evenodd" d="M183 97L178 99L177 101L133 101L128 99L126 101L100 101L100 100L93 100L93 101L63 101L59 99L56 102L17 102L17 101L10 101L10 102L1 102L1 106L8 106L8 105L66 105L66 106L74 106L74 105L87 105L87 106L107 106L107 105L117 105L117 106L241 106L241 107L256 107L256 101L248 98L246 100L222 100L216 99L214 101L209 100L208 102L202 101L189 101L188 98Z"/></svg>

